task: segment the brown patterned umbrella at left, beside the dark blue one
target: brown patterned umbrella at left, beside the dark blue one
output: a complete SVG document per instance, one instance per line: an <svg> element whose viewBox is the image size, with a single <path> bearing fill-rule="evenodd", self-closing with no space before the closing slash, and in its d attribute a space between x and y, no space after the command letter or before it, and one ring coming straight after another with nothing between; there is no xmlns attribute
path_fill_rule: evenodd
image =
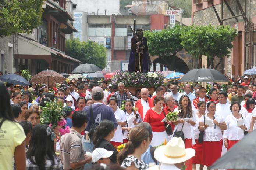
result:
<svg viewBox="0 0 256 170"><path fill-rule="evenodd" d="M34 75L34 77L31 79L31 82L35 84L55 84L62 83L65 80L66 78L63 77L60 73L47 69Z"/></svg>

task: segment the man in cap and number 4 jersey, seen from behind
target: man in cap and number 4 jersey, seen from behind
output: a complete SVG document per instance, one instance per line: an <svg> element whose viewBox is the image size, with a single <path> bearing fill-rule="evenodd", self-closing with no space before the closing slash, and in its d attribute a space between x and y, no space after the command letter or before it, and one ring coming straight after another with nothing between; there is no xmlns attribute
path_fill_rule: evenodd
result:
<svg viewBox="0 0 256 170"><path fill-rule="evenodd" d="M90 106L85 106L85 108L83 108L83 111L86 111L88 116L88 124L85 129L85 134L89 132L90 127L93 123L99 124L100 121L104 119L113 121L115 124L115 128L117 128L117 120L115 119L115 114L113 109L103 104L103 98L104 98L103 89L100 87L94 87L92 89L91 94L92 94L93 104ZM92 107L93 118L91 117L90 107ZM83 145L86 151L93 151L92 139L84 141Z"/></svg>

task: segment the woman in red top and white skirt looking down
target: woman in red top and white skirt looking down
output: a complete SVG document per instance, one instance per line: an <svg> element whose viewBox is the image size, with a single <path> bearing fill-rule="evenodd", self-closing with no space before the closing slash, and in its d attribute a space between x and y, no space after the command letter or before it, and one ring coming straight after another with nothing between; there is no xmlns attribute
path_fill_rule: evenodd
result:
<svg viewBox="0 0 256 170"><path fill-rule="evenodd" d="M165 118L162 110L163 104L164 98L162 96L156 96L154 98L154 107L147 111L144 118L144 122L149 123L152 127L153 138L150 143L152 147L159 146L165 139L168 139L168 135L165 130L165 123L161 122Z"/></svg>

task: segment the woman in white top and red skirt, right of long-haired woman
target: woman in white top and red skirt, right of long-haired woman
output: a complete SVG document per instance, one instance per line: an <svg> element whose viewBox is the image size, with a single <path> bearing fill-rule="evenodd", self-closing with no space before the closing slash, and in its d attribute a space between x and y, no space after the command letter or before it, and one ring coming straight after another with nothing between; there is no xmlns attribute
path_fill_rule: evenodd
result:
<svg viewBox="0 0 256 170"><path fill-rule="evenodd" d="M197 105L198 105L198 112L196 113L196 125L193 126L196 144L192 146L192 148L195 149L196 154L192 160L192 169L195 170L196 164L199 164L200 170L203 170L203 166L204 166L203 161L202 161L203 143L198 142L198 137L199 137L199 133L200 133L200 131L198 129L198 125L199 125L202 115L205 115L206 103L205 103L205 101L199 101Z"/></svg>

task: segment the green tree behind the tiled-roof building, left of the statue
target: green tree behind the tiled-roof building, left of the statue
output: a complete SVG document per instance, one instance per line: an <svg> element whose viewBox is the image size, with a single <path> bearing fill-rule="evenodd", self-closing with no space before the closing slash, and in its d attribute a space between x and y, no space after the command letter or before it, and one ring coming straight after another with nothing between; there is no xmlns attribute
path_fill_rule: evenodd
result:
<svg viewBox="0 0 256 170"><path fill-rule="evenodd" d="M66 40L65 53L82 64L95 64L100 69L106 67L106 48L96 42L80 42L79 39Z"/></svg>

